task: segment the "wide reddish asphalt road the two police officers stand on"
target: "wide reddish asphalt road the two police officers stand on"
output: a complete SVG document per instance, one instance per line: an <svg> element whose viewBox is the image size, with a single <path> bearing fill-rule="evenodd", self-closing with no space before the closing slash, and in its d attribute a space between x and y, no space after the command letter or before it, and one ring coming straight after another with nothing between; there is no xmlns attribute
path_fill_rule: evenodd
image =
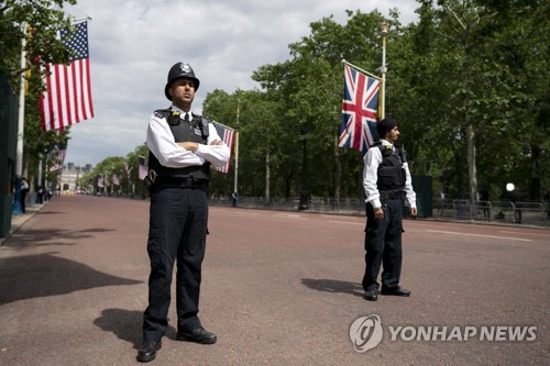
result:
<svg viewBox="0 0 550 366"><path fill-rule="evenodd" d="M65 196L4 241L0 365L139 364L147 220L146 201ZM406 220L413 295L370 302L364 220L211 208L199 315L218 343L172 326L150 364L550 364L549 230ZM350 326L369 315L382 339L358 352Z"/></svg>

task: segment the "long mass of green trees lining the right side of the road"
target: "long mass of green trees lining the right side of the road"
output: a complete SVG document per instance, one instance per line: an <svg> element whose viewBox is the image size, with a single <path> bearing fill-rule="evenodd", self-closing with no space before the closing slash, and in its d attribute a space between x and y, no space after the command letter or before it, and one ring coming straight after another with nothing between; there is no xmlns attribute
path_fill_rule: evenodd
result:
<svg viewBox="0 0 550 366"><path fill-rule="evenodd" d="M342 59L378 73L386 22L386 115L399 123L413 174L432 176L433 195L484 188L499 199L512 181L540 198L550 186L549 3L418 4L419 21L406 26L397 9L323 18L288 45L288 60L252 74L258 89L207 96L205 115L239 132L240 196L363 197L362 155L337 144ZM213 173L212 195L234 190L234 157L230 174Z"/></svg>

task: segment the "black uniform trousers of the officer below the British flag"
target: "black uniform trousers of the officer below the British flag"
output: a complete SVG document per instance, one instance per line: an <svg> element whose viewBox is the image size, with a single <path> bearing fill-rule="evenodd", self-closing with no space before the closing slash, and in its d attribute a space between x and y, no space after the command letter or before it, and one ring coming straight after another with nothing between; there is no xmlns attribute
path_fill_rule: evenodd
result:
<svg viewBox="0 0 550 366"><path fill-rule="evenodd" d="M403 208L400 198L382 200L384 218L374 217L374 208L366 203L365 229L365 275L363 289L377 290L381 265L383 265L382 286L389 290L399 287L402 275L402 233Z"/></svg>

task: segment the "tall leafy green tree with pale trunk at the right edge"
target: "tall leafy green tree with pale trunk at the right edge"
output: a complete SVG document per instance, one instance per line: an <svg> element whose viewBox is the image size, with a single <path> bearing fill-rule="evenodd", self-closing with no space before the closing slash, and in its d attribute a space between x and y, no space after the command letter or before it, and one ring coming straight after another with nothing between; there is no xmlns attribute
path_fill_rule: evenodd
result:
<svg viewBox="0 0 550 366"><path fill-rule="evenodd" d="M420 3L420 22L411 29L414 53L409 59L414 69L404 67L402 75L417 102L416 115L429 121L431 129L425 129L424 136L432 158L443 159L438 170L448 167L443 176L455 177L457 191L463 190L463 177L468 176L471 200L475 199L479 181L499 195L504 182L496 182L495 176L525 186L518 170L527 165L531 174L544 171L540 166L544 162L540 138L537 146L528 146L529 140L518 136L536 131L535 121L543 107L535 114L532 110L537 104L544 106L543 96L548 95L548 82L543 84L548 73L541 68L548 59L543 32L548 30L548 4L471 0ZM542 30L544 36L535 30ZM534 81L546 85L536 89L537 95ZM413 110L411 106L404 109L404 115L415 115ZM532 158L531 164L520 163L526 156ZM531 195L536 196L535 191L540 187Z"/></svg>

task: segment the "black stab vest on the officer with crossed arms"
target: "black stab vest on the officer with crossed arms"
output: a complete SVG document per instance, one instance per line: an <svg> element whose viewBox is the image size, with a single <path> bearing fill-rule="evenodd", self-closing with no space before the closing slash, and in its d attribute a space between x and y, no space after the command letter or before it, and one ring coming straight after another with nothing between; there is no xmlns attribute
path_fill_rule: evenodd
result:
<svg viewBox="0 0 550 366"><path fill-rule="evenodd" d="M193 115L190 121L184 121L178 112L170 109L156 110L155 114L156 117L166 119L166 123L169 124L172 134L177 143L188 141L207 144L209 121L206 118ZM193 177L194 181L210 180L210 163L187 166L185 168L169 168L163 166L151 151L148 153L148 169L155 170L160 177L182 179Z"/></svg>

